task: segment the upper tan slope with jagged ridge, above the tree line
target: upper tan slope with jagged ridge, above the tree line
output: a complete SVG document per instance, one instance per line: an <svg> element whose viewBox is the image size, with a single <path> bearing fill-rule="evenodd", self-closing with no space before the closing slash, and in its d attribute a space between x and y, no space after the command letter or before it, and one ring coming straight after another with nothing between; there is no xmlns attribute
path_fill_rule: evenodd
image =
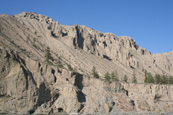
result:
<svg viewBox="0 0 173 115"><path fill-rule="evenodd" d="M28 12L1 15L0 23L0 43L32 58L43 60L45 48L49 46L55 58L60 56L88 74L95 66L100 75L118 71L119 75L131 79L135 71L141 83L144 70L153 75L173 74L172 52L168 56L151 55L127 36L101 33L80 25L60 25L47 16Z"/></svg>

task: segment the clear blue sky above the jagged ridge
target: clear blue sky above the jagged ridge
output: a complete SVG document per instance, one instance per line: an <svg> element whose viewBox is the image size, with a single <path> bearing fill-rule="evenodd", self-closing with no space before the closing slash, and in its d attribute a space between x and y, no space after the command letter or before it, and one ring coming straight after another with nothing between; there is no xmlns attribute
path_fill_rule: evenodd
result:
<svg viewBox="0 0 173 115"><path fill-rule="evenodd" d="M132 37L151 53L173 50L173 0L1 0L0 14L36 12L63 25Z"/></svg>

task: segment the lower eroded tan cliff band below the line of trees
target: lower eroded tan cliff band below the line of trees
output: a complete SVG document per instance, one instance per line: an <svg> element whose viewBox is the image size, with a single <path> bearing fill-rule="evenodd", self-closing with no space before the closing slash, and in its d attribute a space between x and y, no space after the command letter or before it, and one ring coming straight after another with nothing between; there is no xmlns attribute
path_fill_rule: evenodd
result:
<svg viewBox="0 0 173 115"><path fill-rule="evenodd" d="M173 112L172 86L108 83L13 51L0 52L1 113Z"/></svg>

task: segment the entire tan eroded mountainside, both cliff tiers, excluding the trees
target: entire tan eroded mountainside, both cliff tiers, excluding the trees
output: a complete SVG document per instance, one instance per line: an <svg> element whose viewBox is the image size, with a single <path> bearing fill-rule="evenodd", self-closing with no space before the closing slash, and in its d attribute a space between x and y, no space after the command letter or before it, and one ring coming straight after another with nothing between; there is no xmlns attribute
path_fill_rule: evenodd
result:
<svg viewBox="0 0 173 115"><path fill-rule="evenodd" d="M44 62L46 47L53 65ZM0 113L173 112L172 86L103 80L113 71L129 82L135 72L138 83L144 70L172 75L172 55L150 54L130 37L60 25L40 14L0 15ZM91 75L93 66L100 79Z"/></svg>

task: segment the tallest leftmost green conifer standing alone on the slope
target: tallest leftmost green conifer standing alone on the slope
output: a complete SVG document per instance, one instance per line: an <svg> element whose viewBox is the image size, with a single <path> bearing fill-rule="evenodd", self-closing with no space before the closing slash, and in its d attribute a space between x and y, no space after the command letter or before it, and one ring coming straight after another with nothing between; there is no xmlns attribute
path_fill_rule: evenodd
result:
<svg viewBox="0 0 173 115"><path fill-rule="evenodd" d="M47 47L46 48L46 53L45 53L45 62L47 63L47 64L53 64L52 62L53 62L53 57L52 57L52 55L51 55L51 53L50 53L50 48L49 47Z"/></svg>

